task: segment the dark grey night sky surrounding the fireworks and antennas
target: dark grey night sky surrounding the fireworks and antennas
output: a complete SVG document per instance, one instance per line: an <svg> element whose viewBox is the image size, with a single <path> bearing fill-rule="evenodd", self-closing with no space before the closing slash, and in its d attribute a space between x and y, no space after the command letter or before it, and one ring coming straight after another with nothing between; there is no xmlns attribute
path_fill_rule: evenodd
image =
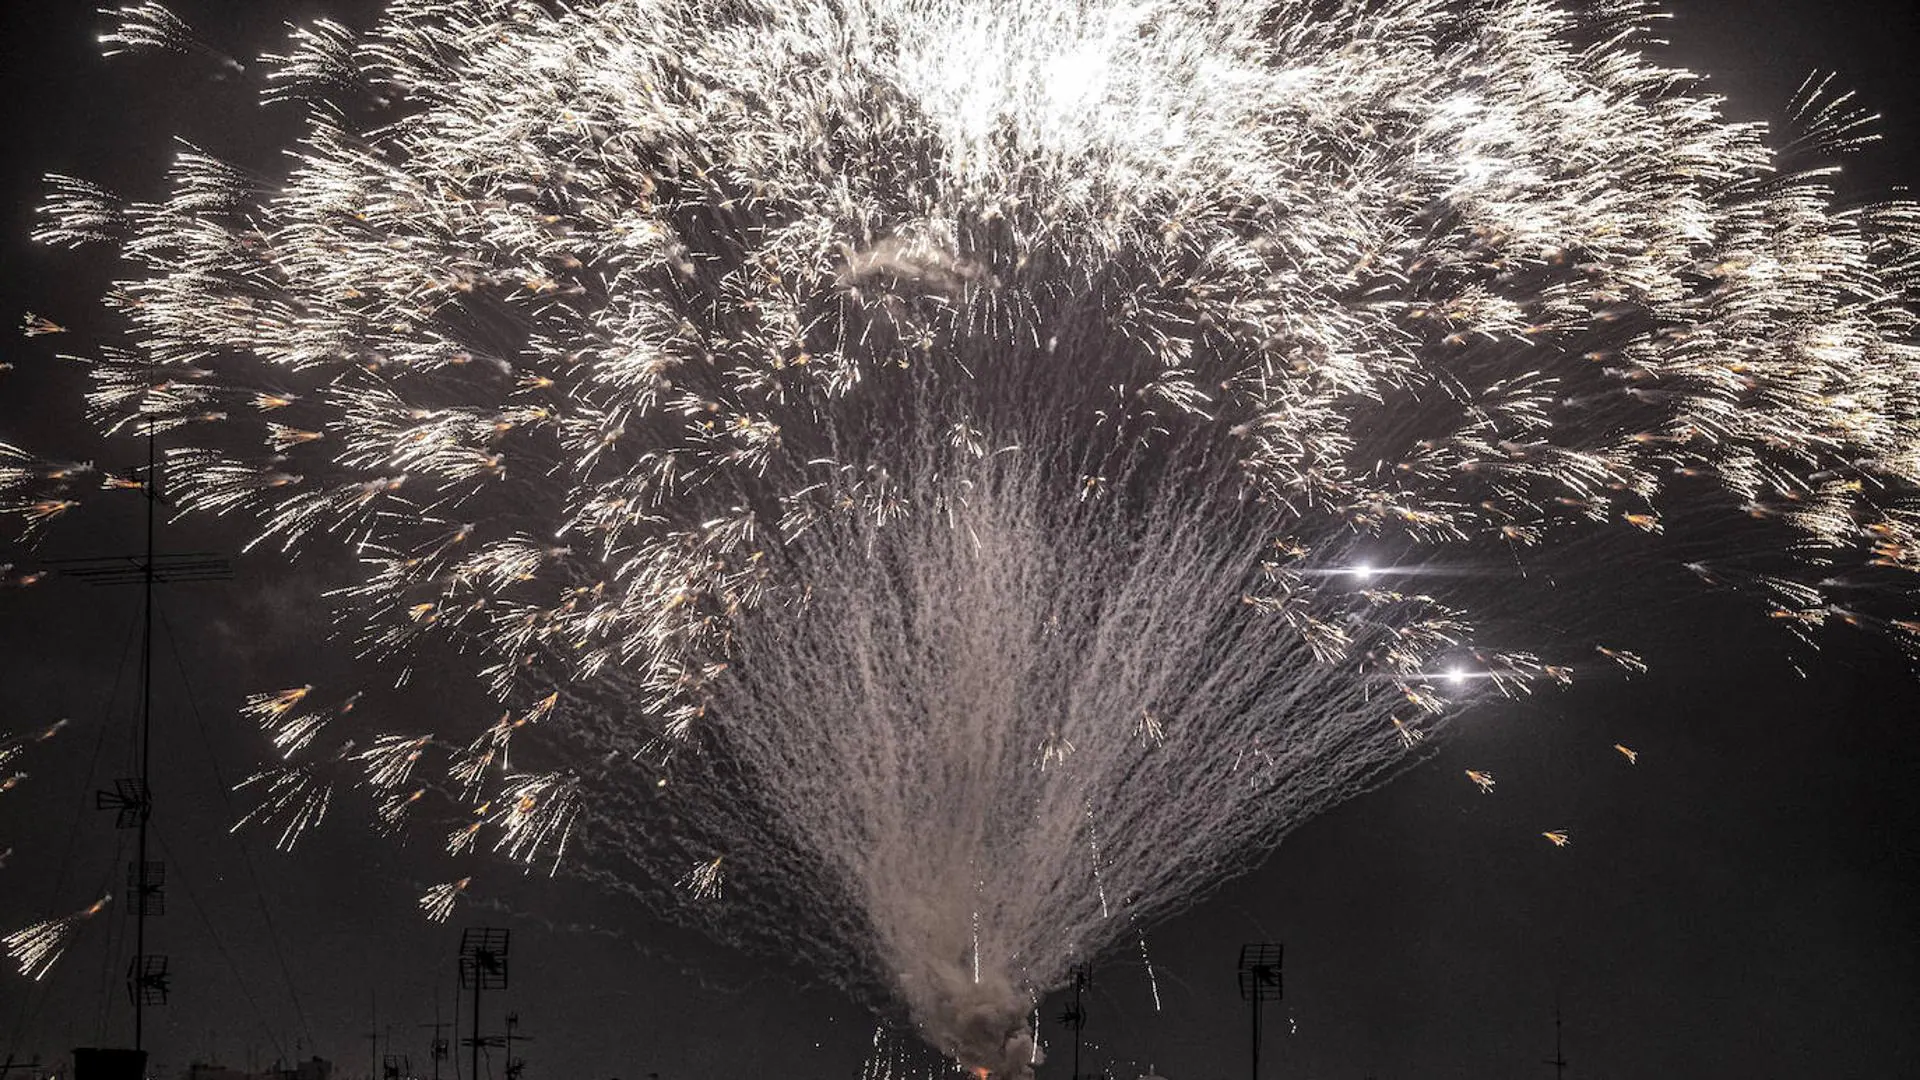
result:
<svg viewBox="0 0 1920 1080"><path fill-rule="evenodd" d="M161 58L100 60L86 8L10 0L0 13L10 325L29 309L83 321L106 273L98 256L25 242L40 173L154 190L169 135L257 160L286 121L263 117L252 83ZM369 8L177 4L244 52L273 40L280 19ZM1736 115L1776 119L1801 75L1837 71L1887 113L1887 138L1843 183L1920 181L1910 4L1672 10L1672 56L1713 73ZM15 365L0 375L0 440L125 455L77 434L77 371L50 352L44 338L0 338L0 361ZM58 553L134 542L131 513L90 515L58 534ZM171 544L227 542L186 527ZM161 648L156 826L171 911L156 947L179 974L150 1042L167 1076L192 1057L282 1053L363 1070L374 1024L420 1063L436 995L453 1013L459 928L482 919L515 930L515 988L497 1001L538 1040L530 1078L858 1074L874 1022L778 959L703 944L564 882L501 894L507 874L495 911L467 907L430 926L413 899L447 876L432 849L348 821L296 855L227 836L223 786L261 749L234 717L238 698L317 680L300 596L259 557L240 559L232 582L165 598L180 663ZM121 657L136 601L67 582L0 594L0 730L73 719L25 761L33 776L0 796L0 851L13 847L0 869L8 928L84 907L104 882L121 892L115 842L131 834L90 809L90 792L129 773L132 675ZM1822 653L1791 651L1728 615L1649 611L1649 675L1473 715L1423 769L1300 828L1256 872L1148 936L1160 1011L1137 955L1104 965L1089 1061L1112 1059L1129 1080L1148 1065L1173 1080L1244 1076L1235 955L1275 940L1286 944L1286 1001L1269 1011L1267 1076L1549 1076L1555 1001L1574 1078L1920 1072L1920 692L1884 644L1836 636ZM1640 765L1615 742L1640 749ZM1476 796L1467 767L1500 776L1498 794ZM1571 847L1540 840L1555 826L1574 832ZM129 1036L127 922L125 911L98 917L42 984L0 978L0 1055L52 1059ZM1066 1076L1062 1032L1046 1034L1056 1065L1043 1076Z"/></svg>

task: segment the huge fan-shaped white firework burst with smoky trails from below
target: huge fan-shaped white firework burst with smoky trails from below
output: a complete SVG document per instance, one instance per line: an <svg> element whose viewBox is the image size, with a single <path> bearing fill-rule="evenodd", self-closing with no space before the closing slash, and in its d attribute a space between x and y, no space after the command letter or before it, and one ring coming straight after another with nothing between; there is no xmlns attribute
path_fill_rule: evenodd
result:
<svg viewBox="0 0 1920 1080"><path fill-rule="evenodd" d="M351 553L344 640L501 701L253 698L282 846L342 786L572 844L1020 1076L1077 959L1444 717L1638 669L1582 582L1920 626L1859 600L1916 559L1914 208L1832 208L1649 17L397 0L269 58L284 179L56 179L38 236L131 263L90 404L179 505ZM83 477L0 446L29 532Z"/></svg>

